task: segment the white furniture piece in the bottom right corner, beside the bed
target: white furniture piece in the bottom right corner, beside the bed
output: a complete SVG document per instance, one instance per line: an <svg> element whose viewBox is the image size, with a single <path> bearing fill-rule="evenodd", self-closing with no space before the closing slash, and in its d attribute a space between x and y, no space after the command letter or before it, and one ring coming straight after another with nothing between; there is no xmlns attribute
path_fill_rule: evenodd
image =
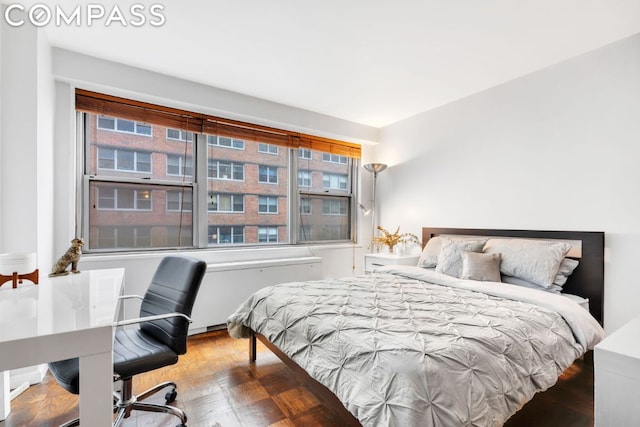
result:
<svg viewBox="0 0 640 427"><path fill-rule="evenodd" d="M640 425L640 317L594 349L595 425Z"/></svg>

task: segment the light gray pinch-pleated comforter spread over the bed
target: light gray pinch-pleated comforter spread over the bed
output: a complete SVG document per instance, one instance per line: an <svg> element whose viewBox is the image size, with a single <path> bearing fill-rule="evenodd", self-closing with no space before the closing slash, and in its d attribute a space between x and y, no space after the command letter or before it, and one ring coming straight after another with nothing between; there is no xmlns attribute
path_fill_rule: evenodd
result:
<svg viewBox="0 0 640 427"><path fill-rule="evenodd" d="M363 425L402 427L500 426L604 337L567 298L416 267L267 287L228 327L264 335Z"/></svg>

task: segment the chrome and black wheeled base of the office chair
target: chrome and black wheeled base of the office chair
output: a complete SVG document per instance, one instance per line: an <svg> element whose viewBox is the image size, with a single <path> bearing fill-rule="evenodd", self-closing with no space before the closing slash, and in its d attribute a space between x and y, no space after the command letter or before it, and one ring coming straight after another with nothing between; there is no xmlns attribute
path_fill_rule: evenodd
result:
<svg viewBox="0 0 640 427"><path fill-rule="evenodd" d="M122 380L122 390L120 392L114 392L114 403L113 403L113 413L117 413L115 420L113 421L113 426L119 426L125 418L128 418L131 415L131 411L147 411L147 412L159 412L164 414L175 415L180 418L179 427L186 427L187 425L187 415L180 408L176 408L170 405L160 405L156 403L145 403L141 402L141 400L146 399L147 397L158 393L159 391L172 387L173 390L168 392L165 396L167 403L171 403L176 398L176 384L170 381L158 384L139 395L133 395L132 390L132 379L127 378ZM69 421L65 424L62 424L60 427L75 427L80 425L80 420L75 419Z"/></svg>

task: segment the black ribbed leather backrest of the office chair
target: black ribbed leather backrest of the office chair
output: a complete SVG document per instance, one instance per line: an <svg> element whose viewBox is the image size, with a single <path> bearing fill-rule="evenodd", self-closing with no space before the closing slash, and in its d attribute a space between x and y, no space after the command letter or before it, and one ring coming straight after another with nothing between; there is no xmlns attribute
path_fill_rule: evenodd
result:
<svg viewBox="0 0 640 427"><path fill-rule="evenodd" d="M207 264L186 256L167 256L160 261L140 306L140 317L166 313L191 316L193 303ZM187 352L189 322L174 317L143 322L140 329L171 347L177 354Z"/></svg>

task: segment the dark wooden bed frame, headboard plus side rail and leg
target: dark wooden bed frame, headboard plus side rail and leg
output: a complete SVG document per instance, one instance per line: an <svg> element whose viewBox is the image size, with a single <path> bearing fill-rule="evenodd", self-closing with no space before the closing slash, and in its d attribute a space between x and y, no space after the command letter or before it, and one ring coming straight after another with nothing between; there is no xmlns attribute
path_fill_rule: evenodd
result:
<svg viewBox="0 0 640 427"><path fill-rule="evenodd" d="M519 237L528 239L563 240L581 242L581 255L575 257L580 264L569 276L563 290L567 293L589 298L589 308L593 317L602 324L604 301L604 233L592 231L533 231L533 230L493 230L471 228L423 228L422 245L439 235ZM324 385L313 379L296 362L263 335L251 331L249 339L249 360L256 361L257 340L289 366L303 382L336 416L336 424L360 426L360 422L344 407L342 402Z"/></svg>

